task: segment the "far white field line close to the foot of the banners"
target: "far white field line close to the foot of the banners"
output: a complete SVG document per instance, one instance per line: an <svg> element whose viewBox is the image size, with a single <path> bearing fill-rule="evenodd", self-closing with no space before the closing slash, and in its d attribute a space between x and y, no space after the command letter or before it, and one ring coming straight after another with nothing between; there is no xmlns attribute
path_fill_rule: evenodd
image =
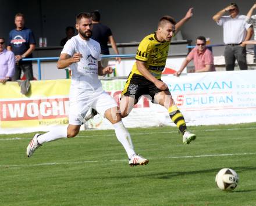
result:
<svg viewBox="0 0 256 206"><path fill-rule="evenodd" d="M230 128L230 129L204 129L204 130L191 130L191 132L214 132L214 131L230 131L230 130L247 130L247 129L256 129L256 127L249 127L249 128ZM95 130L96 131L96 130ZM138 133L130 133L130 135L154 135L159 133L177 133L177 131L166 131L166 132L138 132ZM77 135L77 138L95 138L102 135ZM115 136L115 134L108 134L104 136ZM2 140L30 140L31 138L0 138Z"/></svg>

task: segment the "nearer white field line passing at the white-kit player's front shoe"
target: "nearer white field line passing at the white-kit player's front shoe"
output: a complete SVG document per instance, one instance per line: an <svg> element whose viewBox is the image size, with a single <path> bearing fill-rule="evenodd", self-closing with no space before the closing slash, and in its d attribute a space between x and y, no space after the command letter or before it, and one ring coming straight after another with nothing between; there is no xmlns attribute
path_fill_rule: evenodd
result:
<svg viewBox="0 0 256 206"><path fill-rule="evenodd" d="M234 154L205 154L198 156L174 156L174 157L163 157L164 159L173 159L173 158L201 158L201 157L225 157L225 156L250 156L255 155L256 153L234 153ZM150 160L162 160L161 158L150 158ZM99 163L99 162L116 162L116 161L127 161L127 160L94 160L94 161L77 161L77 162L47 162L40 164L20 164L20 165L0 165L4 168L9 167L38 167L38 166L48 166L48 165L69 165L69 164L85 164L85 163Z"/></svg>

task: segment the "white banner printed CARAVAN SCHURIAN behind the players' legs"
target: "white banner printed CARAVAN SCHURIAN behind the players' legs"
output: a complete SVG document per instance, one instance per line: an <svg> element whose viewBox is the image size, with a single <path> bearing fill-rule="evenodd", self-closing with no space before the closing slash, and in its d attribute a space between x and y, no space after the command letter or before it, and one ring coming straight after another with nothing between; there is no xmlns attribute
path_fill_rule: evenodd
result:
<svg viewBox="0 0 256 206"><path fill-rule="evenodd" d="M162 77L188 125L218 125L256 122L256 71L221 71ZM119 101L125 80L103 82ZM174 125L167 110L141 98L128 117L126 127ZM88 128L108 129L109 122L97 115Z"/></svg>

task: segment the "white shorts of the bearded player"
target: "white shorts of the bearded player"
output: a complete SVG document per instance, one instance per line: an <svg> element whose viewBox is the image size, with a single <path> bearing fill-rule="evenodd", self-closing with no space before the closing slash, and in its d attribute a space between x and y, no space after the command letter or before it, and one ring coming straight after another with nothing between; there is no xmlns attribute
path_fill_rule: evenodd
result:
<svg viewBox="0 0 256 206"><path fill-rule="evenodd" d="M91 95L88 95L87 93L84 95L84 93L76 91L72 93L69 98L69 124L72 125L83 124L83 118L90 107L104 116L106 110L118 106L115 99L105 91L102 91L101 93L91 93Z"/></svg>

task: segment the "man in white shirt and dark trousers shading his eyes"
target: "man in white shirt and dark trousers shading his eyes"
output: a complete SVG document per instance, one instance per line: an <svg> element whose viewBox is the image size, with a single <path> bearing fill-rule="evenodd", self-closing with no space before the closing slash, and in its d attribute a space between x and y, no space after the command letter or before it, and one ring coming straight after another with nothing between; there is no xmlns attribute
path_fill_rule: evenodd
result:
<svg viewBox="0 0 256 206"><path fill-rule="evenodd" d="M229 12L229 16L223 16ZM247 70L246 44L253 35L251 24L246 23L246 16L239 15L236 3L230 3L225 9L220 10L212 17L219 26L223 26L223 39L226 45L224 56L226 70L234 70L234 62L237 60L240 70Z"/></svg>

